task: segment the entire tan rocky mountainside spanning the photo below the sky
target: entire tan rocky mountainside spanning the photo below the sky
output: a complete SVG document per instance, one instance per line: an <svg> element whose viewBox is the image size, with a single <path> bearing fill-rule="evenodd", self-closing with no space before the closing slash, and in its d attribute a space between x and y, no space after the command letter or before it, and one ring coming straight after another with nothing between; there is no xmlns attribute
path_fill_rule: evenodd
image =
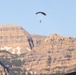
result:
<svg viewBox="0 0 76 75"><path fill-rule="evenodd" d="M13 64L11 73L15 68L20 68L21 74L24 69L38 75L76 72L76 38L70 36L33 35L21 26L3 25L0 26L0 50L1 61Z"/></svg>

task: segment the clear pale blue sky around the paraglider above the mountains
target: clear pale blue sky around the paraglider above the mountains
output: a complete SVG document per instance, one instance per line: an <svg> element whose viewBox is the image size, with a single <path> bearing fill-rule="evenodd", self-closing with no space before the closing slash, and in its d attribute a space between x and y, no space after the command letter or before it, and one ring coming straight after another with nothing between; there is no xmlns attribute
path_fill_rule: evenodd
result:
<svg viewBox="0 0 76 75"><path fill-rule="evenodd" d="M47 16L36 15L38 11ZM0 25L4 24L18 24L31 34L76 37L76 0L0 0Z"/></svg>

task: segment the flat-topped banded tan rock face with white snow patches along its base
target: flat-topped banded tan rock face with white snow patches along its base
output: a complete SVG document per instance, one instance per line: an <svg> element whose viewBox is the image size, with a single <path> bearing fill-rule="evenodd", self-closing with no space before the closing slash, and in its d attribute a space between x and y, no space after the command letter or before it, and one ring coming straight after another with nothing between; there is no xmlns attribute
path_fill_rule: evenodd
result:
<svg viewBox="0 0 76 75"><path fill-rule="evenodd" d="M18 25L0 26L0 50L21 54L33 48L30 34Z"/></svg>

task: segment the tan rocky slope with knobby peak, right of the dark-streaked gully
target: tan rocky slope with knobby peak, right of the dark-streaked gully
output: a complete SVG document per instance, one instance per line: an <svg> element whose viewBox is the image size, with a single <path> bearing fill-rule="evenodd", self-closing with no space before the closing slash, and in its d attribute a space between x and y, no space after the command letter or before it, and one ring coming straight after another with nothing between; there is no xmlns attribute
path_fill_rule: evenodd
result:
<svg viewBox="0 0 76 75"><path fill-rule="evenodd" d="M76 69L76 38L52 34L26 55L27 69L42 73L69 73Z"/></svg>

